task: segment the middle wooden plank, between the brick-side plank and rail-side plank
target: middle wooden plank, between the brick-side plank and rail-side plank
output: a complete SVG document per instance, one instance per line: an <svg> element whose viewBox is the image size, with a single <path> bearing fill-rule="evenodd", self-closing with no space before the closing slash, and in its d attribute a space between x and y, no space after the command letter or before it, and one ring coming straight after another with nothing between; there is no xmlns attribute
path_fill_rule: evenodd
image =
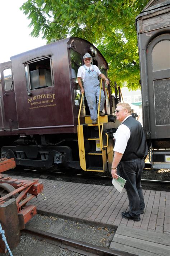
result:
<svg viewBox="0 0 170 256"><path fill-rule="evenodd" d="M170 252L169 250L170 246L148 242L146 240L143 241L138 238L122 236L119 234L114 235L113 241L136 248L136 252L138 251L138 249L141 249L145 251L146 255L148 254L148 252L152 252L152 253L155 253L155 255L169 256L169 252Z"/></svg>

